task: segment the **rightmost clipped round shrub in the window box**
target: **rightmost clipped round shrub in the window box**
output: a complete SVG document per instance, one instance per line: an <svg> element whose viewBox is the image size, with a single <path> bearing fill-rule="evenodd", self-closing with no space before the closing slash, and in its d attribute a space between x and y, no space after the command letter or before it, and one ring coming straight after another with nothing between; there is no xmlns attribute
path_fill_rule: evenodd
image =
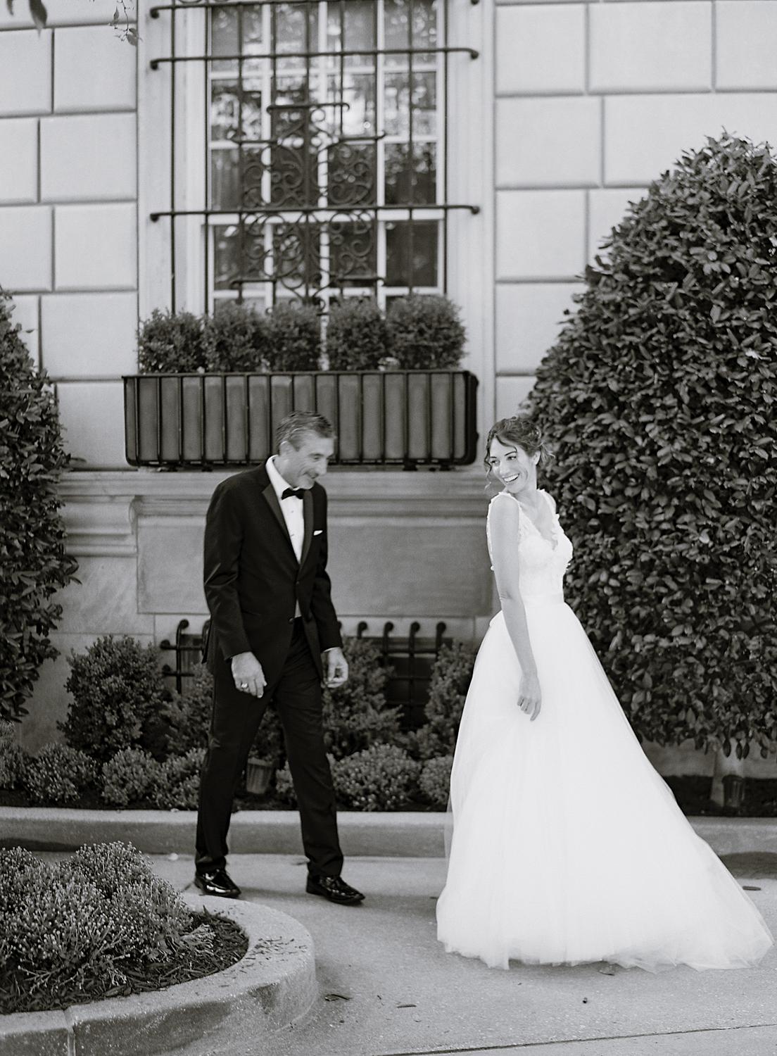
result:
<svg viewBox="0 0 777 1056"><path fill-rule="evenodd" d="M467 334L456 305L436 294L399 297L386 313L392 355L400 367L433 370L461 362Z"/></svg>

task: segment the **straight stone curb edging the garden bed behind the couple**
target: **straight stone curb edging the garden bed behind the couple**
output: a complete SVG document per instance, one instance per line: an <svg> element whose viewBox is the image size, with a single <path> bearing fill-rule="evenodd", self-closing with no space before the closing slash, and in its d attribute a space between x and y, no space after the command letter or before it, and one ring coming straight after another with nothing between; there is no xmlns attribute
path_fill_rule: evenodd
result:
<svg viewBox="0 0 777 1056"><path fill-rule="evenodd" d="M446 817L441 812L340 811L343 851L346 856L442 857ZM688 821L718 854L777 853L777 817ZM0 807L2 840L32 849L70 849L84 843L122 840L148 854L191 854L195 824L194 811ZM302 854L297 812L246 810L233 814L229 848L232 854Z"/></svg>

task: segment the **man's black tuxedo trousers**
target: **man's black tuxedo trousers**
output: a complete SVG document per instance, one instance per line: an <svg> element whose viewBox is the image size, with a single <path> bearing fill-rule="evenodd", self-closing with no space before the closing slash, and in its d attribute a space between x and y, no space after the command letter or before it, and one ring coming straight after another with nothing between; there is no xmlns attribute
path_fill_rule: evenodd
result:
<svg viewBox="0 0 777 1056"><path fill-rule="evenodd" d="M308 872L339 876L343 855L331 771L324 748L321 676L300 618L295 620L283 670L273 683L265 686L261 698L235 687L229 661L220 663L214 673L213 717L200 781L195 867L206 872L226 863L234 795L259 723L270 702L283 727Z"/></svg>

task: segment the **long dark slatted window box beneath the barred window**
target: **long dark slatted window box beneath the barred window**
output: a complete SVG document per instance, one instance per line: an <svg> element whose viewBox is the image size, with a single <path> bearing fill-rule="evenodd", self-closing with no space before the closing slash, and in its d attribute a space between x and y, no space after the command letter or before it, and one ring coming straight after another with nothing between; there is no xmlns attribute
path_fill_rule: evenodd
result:
<svg viewBox="0 0 777 1056"><path fill-rule="evenodd" d="M477 454L469 371L317 371L125 376L131 466L249 466L274 452L289 411L337 434L333 465L468 466Z"/></svg>

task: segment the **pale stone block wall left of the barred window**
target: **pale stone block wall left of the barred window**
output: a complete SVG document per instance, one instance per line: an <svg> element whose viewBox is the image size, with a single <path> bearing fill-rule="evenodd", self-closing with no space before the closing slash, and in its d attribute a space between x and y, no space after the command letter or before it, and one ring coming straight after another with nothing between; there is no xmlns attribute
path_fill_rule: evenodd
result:
<svg viewBox="0 0 777 1056"><path fill-rule="evenodd" d="M74 465L124 466L135 367L136 50L113 0L0 11L0 284L54 380Z"/></svg>

